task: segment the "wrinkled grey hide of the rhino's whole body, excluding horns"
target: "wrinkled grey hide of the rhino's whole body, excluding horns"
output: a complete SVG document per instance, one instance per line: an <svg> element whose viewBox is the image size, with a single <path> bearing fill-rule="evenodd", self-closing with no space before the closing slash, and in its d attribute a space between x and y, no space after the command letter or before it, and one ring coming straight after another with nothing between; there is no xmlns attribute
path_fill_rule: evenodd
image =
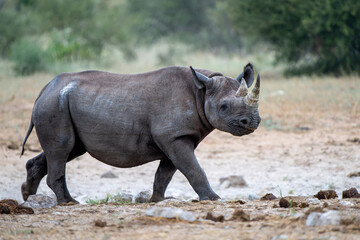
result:
<svg viewBox="0 0 360 240"><path fill-rule="evenodd" d="M253 82L252 65L242 73ZM219 196L211 189L194 150L215 128L236 136L252 133L260 123L256 106L236 97L239 81L189 68L120 75L99 71L63 73L35 101L24 144L35 126L43 152L28 160L24 200L35 194L47 174L58 204L76 203L67 187L65 165L88 152L115 167L128 168L160 160L151 201L164 199L176 170L200 200ZM200 74L201 75L201 74Z"/></svg>

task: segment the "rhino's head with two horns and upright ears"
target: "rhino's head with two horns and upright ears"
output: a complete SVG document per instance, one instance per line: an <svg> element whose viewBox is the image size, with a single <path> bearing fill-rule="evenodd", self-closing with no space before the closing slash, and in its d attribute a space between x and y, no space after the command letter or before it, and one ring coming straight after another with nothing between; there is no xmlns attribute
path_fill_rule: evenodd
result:
<svg viewBox="0 0 360 240"><path fill-rule="evenodd" d="M190 68L197 88L205 88L205 115L214 128L235 136L250 134L258 128L261 121L258 110L260 75L257 75L256 84L249 92L248 87L254 82L254 70L250 63L236 79L207 77Z"/></svg>

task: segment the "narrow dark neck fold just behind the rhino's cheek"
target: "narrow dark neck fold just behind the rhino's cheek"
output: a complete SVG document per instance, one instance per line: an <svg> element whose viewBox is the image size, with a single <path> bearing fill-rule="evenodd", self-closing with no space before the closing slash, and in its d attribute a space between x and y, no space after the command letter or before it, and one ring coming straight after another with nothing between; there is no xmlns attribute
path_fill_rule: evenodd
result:
<svg viewBox="0 0 360 240"><path fill-rule="evenodd" d="M211 133L215 128L210 124L208 119L206 118L205 114L205 91L204 90L197 90L196 91L196 108L199 114L200 119L200 134L201 140L203 140L209 133Z"/></svg>

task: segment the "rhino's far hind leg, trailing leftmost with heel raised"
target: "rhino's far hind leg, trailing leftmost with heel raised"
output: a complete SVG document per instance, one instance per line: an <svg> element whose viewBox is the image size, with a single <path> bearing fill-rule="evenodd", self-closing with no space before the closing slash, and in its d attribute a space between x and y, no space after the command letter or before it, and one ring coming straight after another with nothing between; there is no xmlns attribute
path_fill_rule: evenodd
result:
<svg viewBox="0 0 360 240"><path fill-rule="evenodd" d="M26 163L26 182L21 185L21 193L24 201L30 195L36 194L41 179L47 174L46 156L42 152Z"/></svg>

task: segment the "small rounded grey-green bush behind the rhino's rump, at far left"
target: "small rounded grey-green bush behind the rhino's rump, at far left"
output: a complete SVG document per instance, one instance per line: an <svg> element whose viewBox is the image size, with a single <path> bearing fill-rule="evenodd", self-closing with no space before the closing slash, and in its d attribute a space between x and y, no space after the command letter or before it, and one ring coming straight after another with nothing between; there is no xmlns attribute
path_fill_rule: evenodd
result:
<svg viewBox="0 0 360 240"><path fill-rule="evenodd" d="M22 39L12 44L10 59L14 62L14 70L20 75L46 69L46 54L35 41Z"/></svg>

